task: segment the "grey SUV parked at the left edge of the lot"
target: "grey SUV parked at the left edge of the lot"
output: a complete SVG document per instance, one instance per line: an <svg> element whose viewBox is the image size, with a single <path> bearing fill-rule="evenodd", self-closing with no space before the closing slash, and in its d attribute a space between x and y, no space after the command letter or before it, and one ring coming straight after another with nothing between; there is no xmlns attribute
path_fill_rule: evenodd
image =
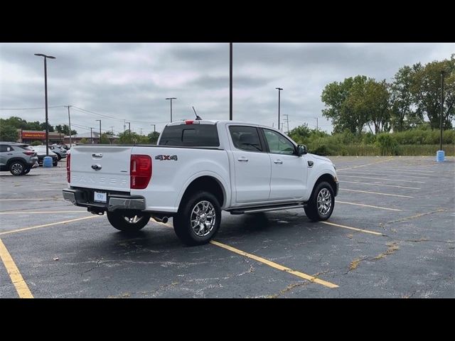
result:
<svg viewBox="0 0 455 341"><path fill-rule="evenodd" d="M24 175L31 168L38 167L38 156L27 144L0 142L0 171L10 171L12 175Z"/></svg>

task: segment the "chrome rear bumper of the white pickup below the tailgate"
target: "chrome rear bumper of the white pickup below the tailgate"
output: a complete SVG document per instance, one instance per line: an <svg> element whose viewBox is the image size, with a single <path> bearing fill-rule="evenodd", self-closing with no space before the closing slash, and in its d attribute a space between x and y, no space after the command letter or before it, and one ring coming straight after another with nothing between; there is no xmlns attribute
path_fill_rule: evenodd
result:
<svg viewBox="0 0 455 341"><path fill-rule="evenodd" d="M73 205L93 208L102 211L114 210L145 210L145 198L140 195L107 195L107 203L91 202L83 190L64 189L63 199L73 202Z"/></svg>

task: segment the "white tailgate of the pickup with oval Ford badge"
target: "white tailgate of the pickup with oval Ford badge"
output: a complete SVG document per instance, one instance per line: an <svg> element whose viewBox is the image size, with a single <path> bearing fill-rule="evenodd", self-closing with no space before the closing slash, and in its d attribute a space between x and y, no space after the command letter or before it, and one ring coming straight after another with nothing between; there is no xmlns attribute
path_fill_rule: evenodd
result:
<svg viewBox="0 0 455 341"><path fill-rule="evenodd" d="M129 192L132 147L75 146L71 148L71 187Z"/></svg>

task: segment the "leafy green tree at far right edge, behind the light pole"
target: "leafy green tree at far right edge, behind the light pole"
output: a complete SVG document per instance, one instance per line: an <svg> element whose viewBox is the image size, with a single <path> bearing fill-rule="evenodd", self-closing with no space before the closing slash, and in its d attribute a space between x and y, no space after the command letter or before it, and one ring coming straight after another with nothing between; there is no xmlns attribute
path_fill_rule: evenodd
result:
<svg viewBox="0 0 455 341"><path fill-rule="evenodd" d="M411 92L417 114L426 116L432 129L439 128L441 106L441 71L444 71L443 126L451 128L455 118L455 55L450 60L434 61L422 66L412 66L415 71Z"/></svg>

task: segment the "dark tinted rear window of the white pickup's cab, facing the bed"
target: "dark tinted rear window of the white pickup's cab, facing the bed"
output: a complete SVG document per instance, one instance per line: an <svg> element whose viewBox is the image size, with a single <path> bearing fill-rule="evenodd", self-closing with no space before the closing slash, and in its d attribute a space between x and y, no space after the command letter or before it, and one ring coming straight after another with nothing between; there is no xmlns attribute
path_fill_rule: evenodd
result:
<svg viewBox="0 0 455 341"><path fill-rule="evenodd" d="M218 131L214 124L181 124L166 126L159 146L218 147Z"/></svg>

